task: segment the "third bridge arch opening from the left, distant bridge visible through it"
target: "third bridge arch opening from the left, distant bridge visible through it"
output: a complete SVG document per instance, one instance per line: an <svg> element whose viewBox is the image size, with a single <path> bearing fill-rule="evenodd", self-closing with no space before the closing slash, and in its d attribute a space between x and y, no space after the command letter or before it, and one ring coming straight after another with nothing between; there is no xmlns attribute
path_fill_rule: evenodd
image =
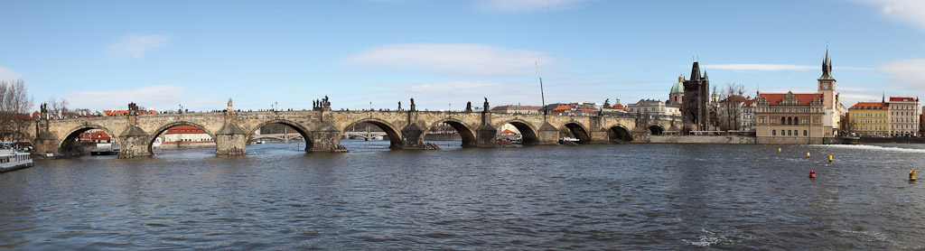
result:
<svg viewBox="0 0 925 251"><path fill-rule="evenodd" d="M260 146L256 146L259 144ZM254 128L247 135L247 145L255 147L268 147L272 149L285 148L293 151L309 152L314 147L314 141L308 131L290 121L267 121Z"/></svg>

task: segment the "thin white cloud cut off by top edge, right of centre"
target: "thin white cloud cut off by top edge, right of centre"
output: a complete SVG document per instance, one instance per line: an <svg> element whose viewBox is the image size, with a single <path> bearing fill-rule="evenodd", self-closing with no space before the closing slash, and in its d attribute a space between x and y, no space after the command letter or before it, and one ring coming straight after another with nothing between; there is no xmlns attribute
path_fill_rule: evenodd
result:
<svg viewBox="0 0 925 251"><path fill-rule="evenodd" d="M552 12L587 5L587 0L480 0L477 6L488 11L524 13Z"/></svg>

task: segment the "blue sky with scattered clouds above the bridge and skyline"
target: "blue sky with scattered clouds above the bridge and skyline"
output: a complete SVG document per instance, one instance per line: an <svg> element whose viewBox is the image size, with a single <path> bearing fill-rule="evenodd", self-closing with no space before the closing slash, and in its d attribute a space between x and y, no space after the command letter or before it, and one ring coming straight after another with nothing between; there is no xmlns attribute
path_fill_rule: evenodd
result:
<svg viewBox="0 0 925 251"><path fill-rule="evenodd" d="M7 1L0 80L37 103L461 109L665 100L693 58L714 86L842 103L925 97L925 1Z"/></svg>

